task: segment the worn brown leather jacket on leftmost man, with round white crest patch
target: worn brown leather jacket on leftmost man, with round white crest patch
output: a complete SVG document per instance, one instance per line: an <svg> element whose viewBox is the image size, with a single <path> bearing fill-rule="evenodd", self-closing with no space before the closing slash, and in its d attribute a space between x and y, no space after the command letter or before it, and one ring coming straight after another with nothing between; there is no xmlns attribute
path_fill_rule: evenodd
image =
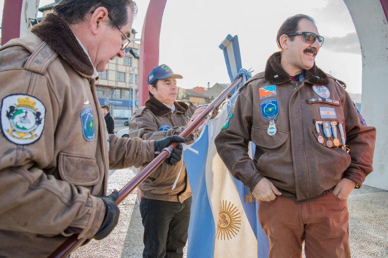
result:
<svg viewBox="0 0 388 258"><path fill-rule="evenodd" d="M108 146L93 67L69 27L49 14L32 32L0 49L1 257L47 257L72 227L83 229L79 237L93 237L104 219L105 205L96 196L107 192L108 169L155 158L154 141L111 134ZM14 94L21 95L16 107L26 117L12 113L7 99ZM36 122L27 106L38 104ZM42 131L17 132L11 120L35 121ZM18 137L28 133L36 138L24 144Z"/></svg>

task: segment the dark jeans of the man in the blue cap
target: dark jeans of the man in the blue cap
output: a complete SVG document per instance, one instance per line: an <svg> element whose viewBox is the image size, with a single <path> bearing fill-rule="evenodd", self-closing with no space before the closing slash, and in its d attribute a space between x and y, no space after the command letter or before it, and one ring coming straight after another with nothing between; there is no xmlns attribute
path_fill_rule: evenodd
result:
<svg viewBox="0 0 388 258"><path fill-rule="evenodd" d="M187 241L191 197L183 203L141 198L143 258L181 258Z"/></svg>

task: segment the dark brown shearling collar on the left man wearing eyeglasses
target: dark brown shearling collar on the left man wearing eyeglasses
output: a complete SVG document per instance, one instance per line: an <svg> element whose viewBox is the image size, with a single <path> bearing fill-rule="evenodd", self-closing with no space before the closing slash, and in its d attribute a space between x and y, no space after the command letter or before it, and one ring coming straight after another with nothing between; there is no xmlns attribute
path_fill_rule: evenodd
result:
<svg viewBox="0 0 388 258"><path fill-rule="evenodd" d="M94 69L69 26L56 14L47 14L31 32L47 42L76 71L91 77Z"/></svg>

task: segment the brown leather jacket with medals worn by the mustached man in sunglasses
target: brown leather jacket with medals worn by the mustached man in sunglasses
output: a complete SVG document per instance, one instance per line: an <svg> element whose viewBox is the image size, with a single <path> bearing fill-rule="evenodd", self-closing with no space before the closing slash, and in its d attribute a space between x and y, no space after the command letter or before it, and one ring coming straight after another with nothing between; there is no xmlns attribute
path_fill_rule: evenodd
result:
<svg viewBox="0 0 388 258"><path fill-rule="evenodd" d="M296 201L325 194L344 177L361 186L372 172L375 128L363 125L343 82L314 64L298 84L282 69L280 59L279 52L273 54L265 72L255 75L240 89L229 126L221 130L215 140L221 159L251 191L266 177L284 196L294 197ZM263 88L268 85L275 85L275 91L273 87ZM330 95L326 92L323 97L319 96L313 85L324 85ZM277 132L273 136L267 133L269 120L262 111L262 107L276 101L268 101L270 99L278 101L274 121ZM322 113L320 108L324 108ZM331 115L334 111L336 118L328 119L325 108L330 109ZM268 112L266 117L269 117ZM322 125L320 135L324 141L318 142L317 121L337 123L340 146L327 146L328 138L324 136ZM341 148L340 122L344 125L349 153ZM254 160L247 154L250 141L256 144Z"/></svg>

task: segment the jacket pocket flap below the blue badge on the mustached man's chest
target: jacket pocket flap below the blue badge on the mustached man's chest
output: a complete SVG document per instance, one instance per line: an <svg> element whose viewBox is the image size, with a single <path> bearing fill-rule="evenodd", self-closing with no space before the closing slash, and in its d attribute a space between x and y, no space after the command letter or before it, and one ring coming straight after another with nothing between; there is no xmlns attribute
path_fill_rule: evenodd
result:
<svg viewBox="0 0 388 258"><path fill-rule="evenodd" d="M277 129L272 136L267 134L267 128L253 126L251 129L251 139L256 144L263 148L274 149L281 146L288 138L288 133Z"/></svg>

